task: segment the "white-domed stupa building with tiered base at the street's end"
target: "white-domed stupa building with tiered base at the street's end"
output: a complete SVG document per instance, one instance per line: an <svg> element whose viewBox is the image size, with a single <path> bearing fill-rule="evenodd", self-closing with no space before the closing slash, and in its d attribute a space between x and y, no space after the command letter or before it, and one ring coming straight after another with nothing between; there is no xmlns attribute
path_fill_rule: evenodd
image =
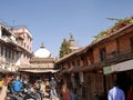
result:
<svg viewBox="0 0 133 100"><path fill-rule="evenodd" d="M54 58L42 43L31 58L30 67L20 68L19 71L29 74L31 79L50 80L58 70L54 69Z"/></svg>

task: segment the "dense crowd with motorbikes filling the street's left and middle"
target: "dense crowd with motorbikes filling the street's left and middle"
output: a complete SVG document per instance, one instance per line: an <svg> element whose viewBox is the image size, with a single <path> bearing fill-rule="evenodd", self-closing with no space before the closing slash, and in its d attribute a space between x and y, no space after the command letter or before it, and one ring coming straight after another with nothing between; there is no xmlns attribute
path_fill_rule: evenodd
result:
<svg viewBox="0 0 133 100"><path fill-rule="evenodd" d="M30 81L25 77L12 76L7 83L2 78L0 78L0 92L2 90L2 87L7 86L7 96L8 94L22 96L22 93L28 92L28 89L30 88L32 92L34 92L33 90L35 90L35 92L40 91L39 93L40 97L42 98L48 97L51 100L59 100L59 98L60 100L76 100L75 91L70 91L70 89L68 89L66 82L62 82L62 83L61 82L62 80L60 80L59 83L59 80L55 80L53 77L51 77L48 81L44 81L42 79L37 79L37 80L34 79ZM57 89L58 87L60 87L60 90ZM27 100L29 97L32 96L27 96L27 97L24 96L22 98L24 98L23 100Z"/></svg>

